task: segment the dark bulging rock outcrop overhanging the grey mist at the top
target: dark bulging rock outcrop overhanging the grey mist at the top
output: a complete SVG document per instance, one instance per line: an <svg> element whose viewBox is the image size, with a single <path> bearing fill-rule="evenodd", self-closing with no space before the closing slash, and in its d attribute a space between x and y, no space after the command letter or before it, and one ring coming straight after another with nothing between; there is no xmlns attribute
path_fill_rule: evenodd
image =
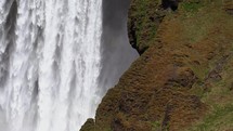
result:
<svg viewBox="0 0 233 131"><path fill-rule="evenodd" d="M131 1L128 35L130 44L140 54L148 49L152 42L151 38L156 36L157 28L165 15L166 12L159 0L147 0L146 2L142 0Z"/></svg>

